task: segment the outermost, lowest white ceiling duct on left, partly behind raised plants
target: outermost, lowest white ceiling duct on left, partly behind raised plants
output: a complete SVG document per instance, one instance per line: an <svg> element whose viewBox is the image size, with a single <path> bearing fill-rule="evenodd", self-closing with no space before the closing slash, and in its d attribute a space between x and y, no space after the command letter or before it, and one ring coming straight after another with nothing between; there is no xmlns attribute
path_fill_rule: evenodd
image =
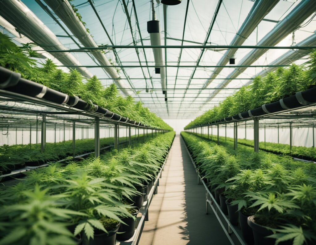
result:
<svg viewBox="0 0 316 245"><path fill-rule="evenodd" d="M0 26L3 27L4 30L7 32L10 32L12 35L14 35L14 40L19 42L20 44L27 44L27 43L33 43L33 41L23 34L21 34L21 38L19 33L15 30L15 27L12 26L7 20L5 20L2 16L0 16ZM53 55L46 52L39 46L32 46L32 50L36 51L36 53L39 55L39 58L41 59L51 59L56 65L60 66L63 65L60 61L56 59ZM62 67L65 72L68 72L69 69L67 67Z"/></svg>

